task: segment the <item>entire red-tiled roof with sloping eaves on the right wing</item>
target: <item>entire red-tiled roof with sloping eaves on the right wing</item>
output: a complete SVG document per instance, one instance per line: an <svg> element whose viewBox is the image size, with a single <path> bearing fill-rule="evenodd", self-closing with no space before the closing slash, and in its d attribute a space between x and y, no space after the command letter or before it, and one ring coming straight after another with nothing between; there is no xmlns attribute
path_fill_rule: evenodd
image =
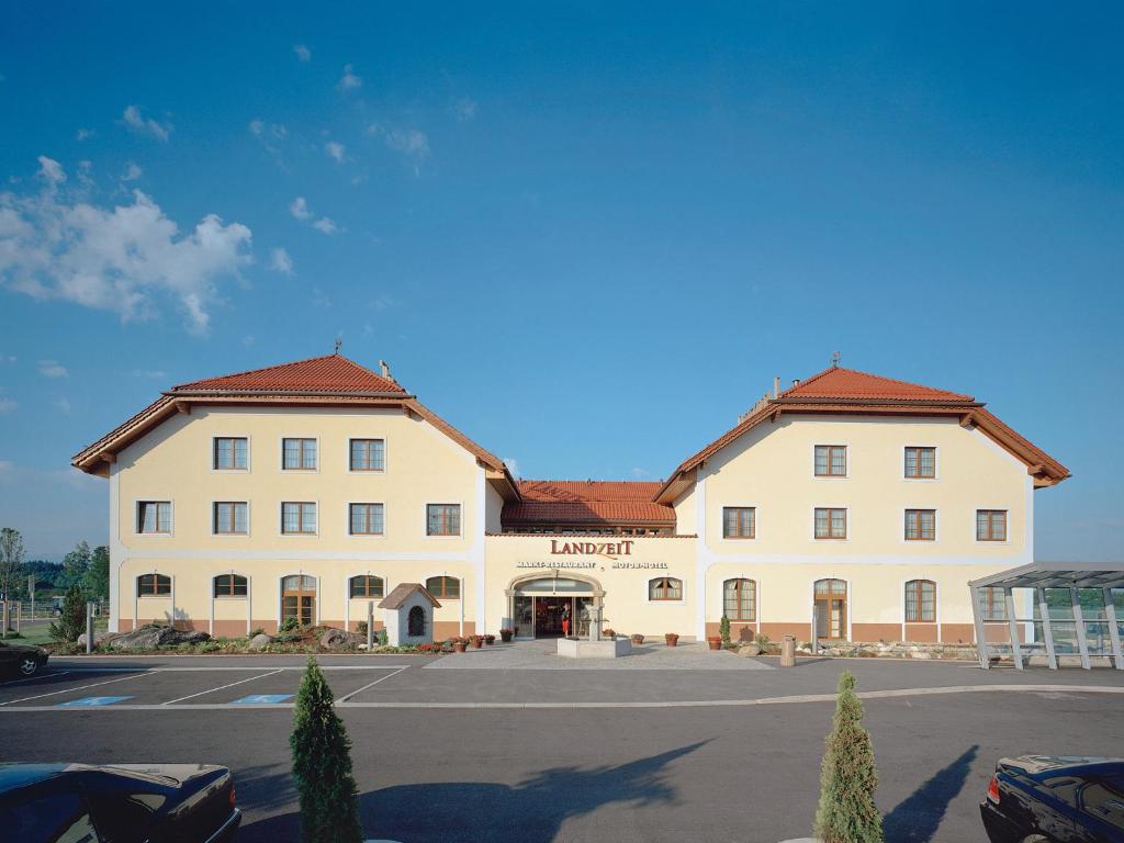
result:
<svg viewBox="0 0 1124 843"><path fill-rule="evenodd" d="M694 472L707 460L762 422L776 422L786 413L954 416L964 426L975 425L1026 463L1035 486L1053 486L1070 477L1069 469L984 409L984 404L972 396L833 366L794 384L777 398L759 402L737 425L680 463L653 500L670 504L687 489Z"/></svg>

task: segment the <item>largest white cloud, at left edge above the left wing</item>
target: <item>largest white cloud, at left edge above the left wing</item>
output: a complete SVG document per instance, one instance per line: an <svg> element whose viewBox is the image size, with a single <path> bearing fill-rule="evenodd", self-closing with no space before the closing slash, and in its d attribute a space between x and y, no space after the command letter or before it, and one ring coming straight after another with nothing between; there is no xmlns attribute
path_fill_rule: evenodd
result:
<svg viewBox="0 0 1124 843"><path fill-rule="evenodd" d="M125 320L152 318L158 301L170 298L192 332L206 332L216 280L237 277L252 260L251 230L209 214L181 233L140 191L115 207L61 196L62 167L49 158L39 163L44 190L0 193L0 283L37 299L116 311Z"/></svg>

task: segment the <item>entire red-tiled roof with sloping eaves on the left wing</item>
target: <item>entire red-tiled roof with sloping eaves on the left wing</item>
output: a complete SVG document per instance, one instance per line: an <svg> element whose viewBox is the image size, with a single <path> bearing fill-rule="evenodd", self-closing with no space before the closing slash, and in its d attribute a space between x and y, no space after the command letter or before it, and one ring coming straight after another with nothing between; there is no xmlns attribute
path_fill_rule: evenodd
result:
<svg viewBox="0 0 1124 843"><path fill-rule="evenodd" d="M389 372L386 375L375 374L339 354L327 354L294 363L181 383L84 447L74 455L71 464L89 474L108 477L108 464L123 448L176 413L190 413L191 407L196 405L401 407L407 414L425 419L475 456L489 470L489 479L500 482L505 498L518 497L515 478L502 460L425 407L390 377Z"/></svg>

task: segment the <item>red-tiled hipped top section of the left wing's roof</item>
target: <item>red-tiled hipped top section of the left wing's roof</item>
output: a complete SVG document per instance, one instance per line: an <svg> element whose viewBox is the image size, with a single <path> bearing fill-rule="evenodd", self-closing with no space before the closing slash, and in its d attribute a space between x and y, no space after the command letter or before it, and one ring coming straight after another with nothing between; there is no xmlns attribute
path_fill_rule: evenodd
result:
<svg viewBox="0 0 1124 843"><path fill-rule="evenodd" d="M393 378L383 378L338 354L248 372L205 378L172 387L172 392L333 392L405 396Z"/></svg>

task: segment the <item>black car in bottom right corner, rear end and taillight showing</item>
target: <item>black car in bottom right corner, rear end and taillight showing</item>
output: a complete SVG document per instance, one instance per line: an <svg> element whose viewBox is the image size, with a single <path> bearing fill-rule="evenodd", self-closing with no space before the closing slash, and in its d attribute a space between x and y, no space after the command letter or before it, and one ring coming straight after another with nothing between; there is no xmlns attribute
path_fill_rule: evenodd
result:
<svg viewBox="0 0 1124 843"><path fill-rule="evenodd" d="M980 815L991 843L1121 843L1124 759L1003 759Z"/></svg>

